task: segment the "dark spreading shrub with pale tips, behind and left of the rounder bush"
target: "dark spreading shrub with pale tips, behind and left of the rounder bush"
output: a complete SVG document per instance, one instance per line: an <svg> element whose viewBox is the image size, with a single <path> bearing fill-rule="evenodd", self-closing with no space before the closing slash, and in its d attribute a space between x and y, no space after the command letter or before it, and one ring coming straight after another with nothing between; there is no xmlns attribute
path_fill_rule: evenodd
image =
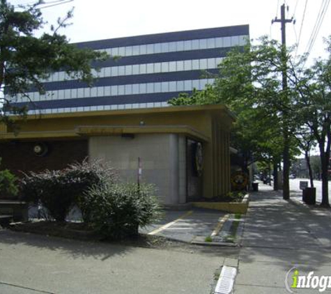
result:
<svg viewBox="0 0 331 294"><path fill-rule="evenodd" d="M52 218L63 222L71 208L75 204L79 206L79 199L85 191L94 185L105 186L107 181L113 183L114 178L113 169L98 160L91 163L84 160L60 171L30 172L24 174L21 181L22 199L41 203ZM88 208L82 210L83 217L88 213Z"/></svg>

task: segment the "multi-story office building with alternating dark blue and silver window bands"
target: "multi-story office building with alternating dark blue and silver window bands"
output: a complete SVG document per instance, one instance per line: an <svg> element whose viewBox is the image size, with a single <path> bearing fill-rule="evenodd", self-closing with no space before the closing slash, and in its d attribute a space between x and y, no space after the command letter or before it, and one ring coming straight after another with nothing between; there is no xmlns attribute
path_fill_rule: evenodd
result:
<svg viewBox="0 0 331 294"><path fill-rule="evenodd" d="M248 38L249 26L242 25L77 43L121 58L102 63L92 87L54 72L45 81L45 95L29 93L29 107L53 114L167 106L179 93L212 83L203 71L217 72L226 52Z"/></svg>

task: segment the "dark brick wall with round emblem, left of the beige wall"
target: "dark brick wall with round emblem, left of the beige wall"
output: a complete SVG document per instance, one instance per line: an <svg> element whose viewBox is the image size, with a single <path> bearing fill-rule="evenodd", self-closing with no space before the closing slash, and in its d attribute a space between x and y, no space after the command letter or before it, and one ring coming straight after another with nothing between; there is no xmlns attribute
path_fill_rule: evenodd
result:
<svg viewBox="0 0 331 294"><path fill-rule="evenodd" d="M38 157L33 153L33 146L39 142L1 142L0 169L9 169L17 176L22 176L18 171L63 169L72 162L82 162L88 155L87 140L44 141L48 152L45 156Z"/></svg>

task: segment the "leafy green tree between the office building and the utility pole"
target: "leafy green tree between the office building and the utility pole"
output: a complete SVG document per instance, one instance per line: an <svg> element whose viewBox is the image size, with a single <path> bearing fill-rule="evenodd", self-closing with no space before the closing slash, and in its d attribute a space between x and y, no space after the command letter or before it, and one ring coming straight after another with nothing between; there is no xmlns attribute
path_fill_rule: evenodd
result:
<svg viewBox="0 0 331 294"><path fill-rule="evenodd" d="M203 91L193 91L191 96L181 95L170 103L227 105L237 115L233 145L247 157L254 155L254 160L271 158L276 169L284 150L290 154L297 152L296 142L291 137L293 132L284 140L284 130L294 126L290 114L284 120L284 112L288 113L289 108L288 102L284 102L288 95L282 90L283 63L281 45L261 38L258 45L231 51L220 63L213 85ZM288 169L288 165L289 162L284 167ZM287 178L288 173L287 170Z"/></svg>

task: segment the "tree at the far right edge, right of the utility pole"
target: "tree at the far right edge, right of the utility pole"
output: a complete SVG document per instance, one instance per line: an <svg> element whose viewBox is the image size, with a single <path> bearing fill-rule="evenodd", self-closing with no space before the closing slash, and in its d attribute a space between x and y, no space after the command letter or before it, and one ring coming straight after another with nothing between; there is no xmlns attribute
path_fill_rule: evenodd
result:
<svg viewBox="0 0 331 294"><path fill-rule="evenodd" d="M321 160L322 206L329 207L328 165L331 148L331 37L326 40L328 58L310 68L290 72L297 92L294 109L303 127L316 141Z"/></svg>

